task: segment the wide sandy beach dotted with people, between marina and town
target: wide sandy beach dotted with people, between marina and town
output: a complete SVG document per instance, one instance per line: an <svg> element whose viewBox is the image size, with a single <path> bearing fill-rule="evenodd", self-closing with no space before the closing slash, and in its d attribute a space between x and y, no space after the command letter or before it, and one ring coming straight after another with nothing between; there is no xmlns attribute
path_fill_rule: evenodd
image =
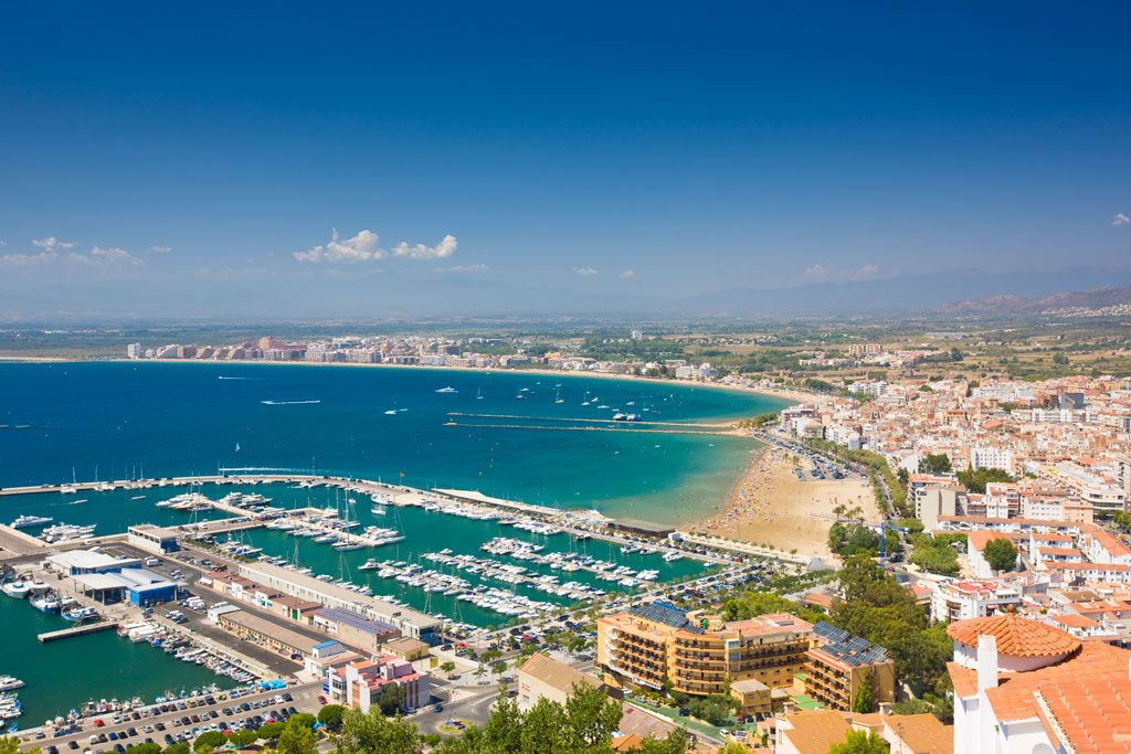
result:
<svg viewBox="0 0 1131 754"><path fill-rule="evenodd" d="M831 557L829 526L837 504L863 509L869 521L879 520L875 499L866 479L814 480L803 465L797 478L795 454L767 447L739 479L726 508L693 527L732 539L780 551Z"/></svg>

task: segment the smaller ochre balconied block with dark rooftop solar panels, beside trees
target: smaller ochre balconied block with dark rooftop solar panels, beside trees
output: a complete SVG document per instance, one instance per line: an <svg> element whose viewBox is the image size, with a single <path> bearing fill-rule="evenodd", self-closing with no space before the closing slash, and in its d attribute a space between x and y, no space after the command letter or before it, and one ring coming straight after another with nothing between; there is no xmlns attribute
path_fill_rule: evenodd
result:
<svg viewBox="0 0 1131 754"><path fill-rule="evenodd" d="M806 652L800 674L803 693L832 710L851 710L865 684L872 708L896 701L896 664L888 650L821 621L813 626L817 645Z"/></svg>

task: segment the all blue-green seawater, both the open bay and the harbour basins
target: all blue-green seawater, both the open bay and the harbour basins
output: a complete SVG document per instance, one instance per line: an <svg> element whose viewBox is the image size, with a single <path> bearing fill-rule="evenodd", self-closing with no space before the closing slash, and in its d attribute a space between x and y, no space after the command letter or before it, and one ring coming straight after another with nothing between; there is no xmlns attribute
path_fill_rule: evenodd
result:
<svg viewBox="0 0 1131 754"><path fill-rule="evenodd" d="M448 387L456 392L435 392ZM587 400L590 406L582 406ZM694 519L722 504L756 445L734 437L639 434L620 424L579 419L607 419L620 409L656 422L701 422L784 405L744 392L567 375L144 363L0 364L0 486L67 482L72 474L79 480L210 474L217 467L317 469L386 480L404 474L406 484L422 487L474 488L663 522ZM608 408L598 408L602 405ZM450 426L450 421L474 426ZM613 431L530 428L586 426ZM233 489L254 491L287 508L338 502L330 489L282 484L208 485L201 492L218 499ZM181 523L189 514L153 503L183 491L20 495L0 499L0 520L21 513L51 515L68 523L97 523L100 535L145 521ZM135 499L140 494L145 497ZM416 560L442 548L483 555L483 541L507 536L536 541L546 551L581 549L637 570L656 569L662 581L702 569L689 560L667 563L657 555L624 555L604 541L544 537L421 509L390 509L378 517L365 499L359 501L357 514L366 525L402 529L406 540L338 553L299 538L297 554L296 538L279 531L250 531L243 540L269 554L297 555L317 572L369 583L374 593L397 595L420 609L481 626L503 618L469 603L382 581L357 565L369 557ZM440 567L426 561L424 565ZM562 601L525 587L459 575L534 599ZM608 588L585 572L569 578ZM23 600L0 598L0 635L6 638L0 643L0 674L28 684L20 692L23 727L90 697L152 697L215 679L207 670L112 633L50 644L35 640L36 633L59 623L61 618L41 615Z"/></svg>

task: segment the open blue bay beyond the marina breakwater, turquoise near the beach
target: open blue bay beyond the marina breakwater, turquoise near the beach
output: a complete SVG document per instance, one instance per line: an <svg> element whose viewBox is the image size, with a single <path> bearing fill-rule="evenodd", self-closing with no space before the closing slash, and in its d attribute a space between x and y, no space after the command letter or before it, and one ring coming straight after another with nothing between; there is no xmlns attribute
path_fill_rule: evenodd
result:
<svg viewBox="0 0 1131 754"><path fill-rule="evenodd" d="M456 392L435 392L449 387ZM218 467L317 469L679 522L722 504L751 441L638 434L612 424L589 426L620 431L515 427L577 427L570 419L607 419L618 409L654 422L696 422L782 406L749 392L566 374L0 364L0 486L64 482L72 474L89 480ZM449 416L454 411L521 418Z"/></svg>

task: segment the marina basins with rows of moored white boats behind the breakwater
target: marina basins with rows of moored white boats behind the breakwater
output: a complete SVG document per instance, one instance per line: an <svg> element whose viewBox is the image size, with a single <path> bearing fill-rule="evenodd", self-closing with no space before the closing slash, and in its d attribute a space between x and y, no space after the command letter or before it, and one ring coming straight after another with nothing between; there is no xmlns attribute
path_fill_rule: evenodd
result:
<svg viewBox="0 0 1131 754"><path fill-rule="evenodd" d="M81 538L53 543L35 538L42 553L114 543L129 526L155 522L225 557L274 563L434 615L449 631L494 629L709 567L701 560L666 562L663 545L647 552L625 547L625 540L607 531L607 521L593 512L563 512L477 493L245 473L96 484L97 489L95 483L81 482L48 489L3 489L0 505L18 510L19 515L46 517L76 494L85 495L86 503L64 509L67 526L83 531ZM5 530L27 537L0 528ZM253 677L231 657L178 633L173 622L146 621L115 635L110 629L118 622L92 619L97 614L89 607L66 601L60 606L46 584L41 588L17 573L0 587L16 592L2 600L7 609L0 612L0 624L7 618L8 625L0 627L26 633L32 621L52 622L31 634L45 651L69 653L71 647L100 642L106 661L118 665L137 645L150 656L164 655L173 667L191 666L211 677L219 674L241 682ZM33 605L37 598L41 604ZM20 608L18 618L12 608ZM175 647L172 652L171 647ZM5 669L29 682L20 703L36 717L58 714L66 711L64 704L77 703L63 690L44 695L37 666ZM162 678L167 675L162 670ZM53 707L51 699L58 700Z"/></svg>

